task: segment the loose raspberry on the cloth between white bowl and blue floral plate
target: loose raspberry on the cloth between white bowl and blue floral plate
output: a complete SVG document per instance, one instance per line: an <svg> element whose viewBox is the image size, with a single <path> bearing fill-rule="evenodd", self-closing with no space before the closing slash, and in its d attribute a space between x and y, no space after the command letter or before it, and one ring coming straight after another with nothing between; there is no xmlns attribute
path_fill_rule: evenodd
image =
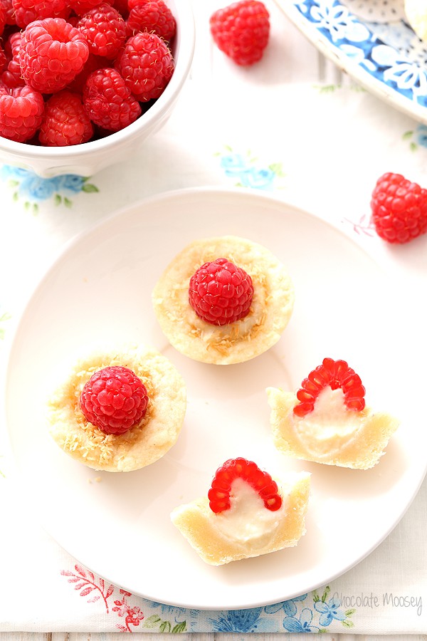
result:
<svg viewBox="0 0 427 641"><path fill-rule="evenodd" d="M259 0L241 0L218 9L209 24L216 46L238 65L253 65L262 58L270 16Z"/></svg>

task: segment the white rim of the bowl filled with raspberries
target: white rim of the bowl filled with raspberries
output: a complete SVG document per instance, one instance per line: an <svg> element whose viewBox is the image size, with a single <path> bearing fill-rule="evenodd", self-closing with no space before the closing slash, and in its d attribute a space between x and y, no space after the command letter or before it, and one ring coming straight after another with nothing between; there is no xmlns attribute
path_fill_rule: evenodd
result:
<svg viewBox="0 0 427 641"><path fill-rule="evenodd" d="M194 14L190 0L176 0L175 6L176 10L179 11L179 24L175 36L175 46L179 56L176 57L174 73L162 95L134 123L98 140L83 142L81 145L70 145L69 147L28 145L26 142L16 142L0 135L0 152L7 152L16 158L25 157L27 161L52 160L53 162L58 162L63 160L64 162L70 162L75 157L86 157L94 152L105 152L110 147L120 147L134 137L137 138L138 134L155 122L157 118L162 120L169 105L174 102L189 75L196 39Z"/></svg>

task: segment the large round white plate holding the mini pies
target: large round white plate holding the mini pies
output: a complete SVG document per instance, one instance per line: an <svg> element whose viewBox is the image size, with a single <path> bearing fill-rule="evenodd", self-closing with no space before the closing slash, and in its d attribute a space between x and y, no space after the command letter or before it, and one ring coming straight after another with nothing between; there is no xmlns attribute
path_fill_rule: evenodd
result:
<svg viewBox="0 0 427 641"><path fill-rule="evenodd" d="M223 234L246 236L279 256L296 301L268 353L216 366L167 343L151 293L189 241ZM161 603L250 608L325 585L384 539L426 473L425 429L417 419L420 354L411 348L417 332L414 325L401 331L400 323L381 266L338 229L283 201L243 189L190 189L135 204L68 245L16 331L6 412L26 509L84 566ZM135 341L154 345L184 376L184 427L176 445L149 467L93 471L49 437L45 402L76 359L102 345ZM374 469L294 461L273 447L265 387L295 389L325 356L347 360L367 387L368 404L401 418ZM216 468L237 456L273 475L312 473L307 533L295 548L212 567L169 514L205 494Z"/></svg>

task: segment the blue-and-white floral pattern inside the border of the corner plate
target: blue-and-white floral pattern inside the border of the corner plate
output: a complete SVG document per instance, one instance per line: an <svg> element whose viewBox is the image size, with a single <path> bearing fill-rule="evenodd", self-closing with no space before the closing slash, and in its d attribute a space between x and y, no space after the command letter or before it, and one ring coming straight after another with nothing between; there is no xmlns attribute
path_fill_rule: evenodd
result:
<svg viewBox="0 0 427 641"><path fill-rule="evenodd" d="M344 58L402 97L427 106L426 47L403 19L388 25L362 22L338 0L293 4Z"/></svg>

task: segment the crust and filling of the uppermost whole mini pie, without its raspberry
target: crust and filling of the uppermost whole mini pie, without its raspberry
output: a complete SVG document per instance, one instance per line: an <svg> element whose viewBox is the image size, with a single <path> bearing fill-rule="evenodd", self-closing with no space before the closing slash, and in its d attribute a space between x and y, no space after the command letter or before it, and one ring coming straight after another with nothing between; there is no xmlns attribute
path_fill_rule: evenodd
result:
<svg viewBox="0 0 427 641"><path fill-rule="evenodd" d="M218 258L245 270L253 282L247 316L221 326L199 318L189 304L191 276ZM229 365L277 343L292 314L294 289L285 267L268 249L237 236L218 236L186 246L159 278L152 301L159 325L176 350L204 363Z"/></svg>

